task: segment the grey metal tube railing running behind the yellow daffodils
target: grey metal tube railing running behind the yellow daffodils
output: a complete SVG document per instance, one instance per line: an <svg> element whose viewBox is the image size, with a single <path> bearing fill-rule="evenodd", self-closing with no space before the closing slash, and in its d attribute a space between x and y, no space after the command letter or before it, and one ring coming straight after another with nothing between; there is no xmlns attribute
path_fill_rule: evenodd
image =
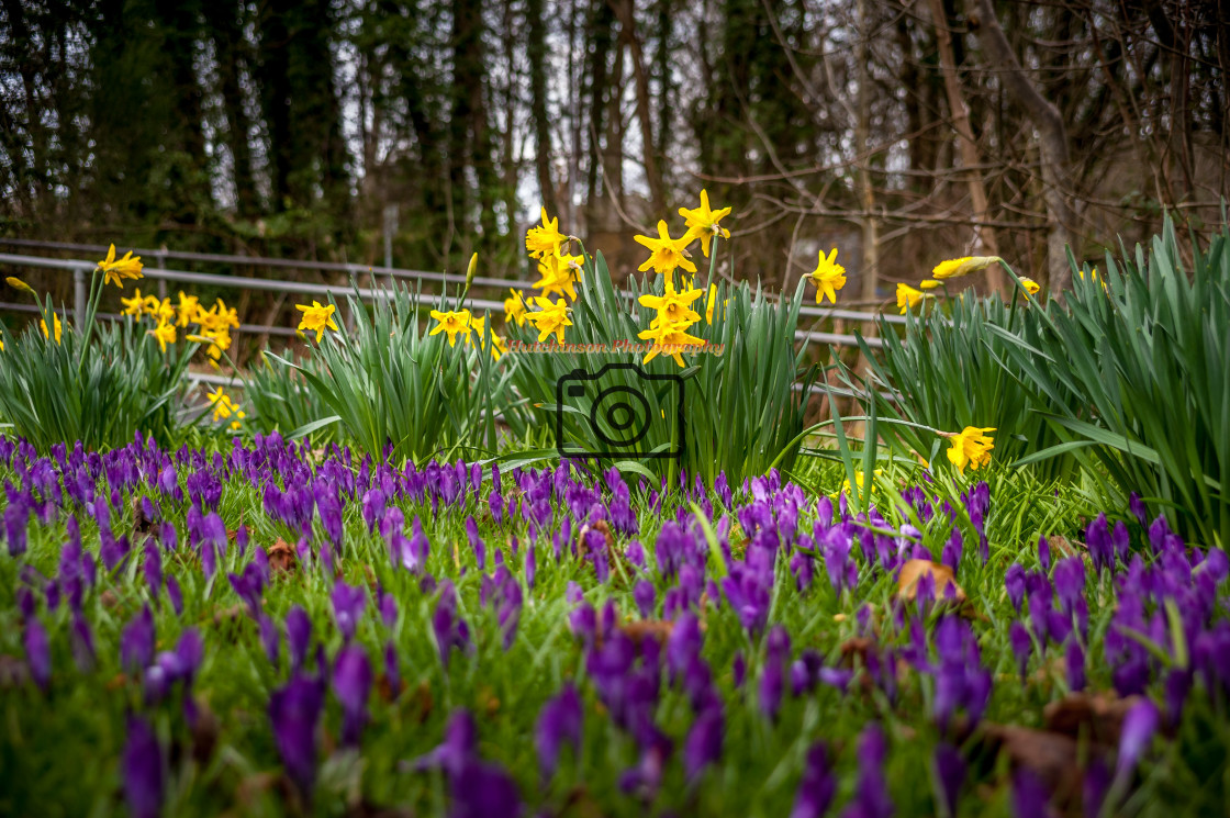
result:
<svg viewBox="0 0 1230 818"><path fill-rule="evenodd" d="M57 250L74 250L74 251L90 251L97 250L100 253L106 252L106 247L93 247L91 245L59 245L53 242L33 242L28 240L18 239L0 239L0 244L10 244L18 246L36 246L39 248L57 248ZM392 278L418 280L418 282L437 282L442 284L465 284L464 276L455 276L450 273L438 273L429 271L411 271L411 269L397 269L386 267L365 267L362 264L339 264L339 263L325 263L325 262L296 262L285 258L256 258L248 256L223 256L223 255L210 255L210 253L183 253L183 252L171 252L171 251L148 251L148 250L135 250L135 255L154 256L159 258L181 258L184 261L200 261L200 262L215 262L215 263L240 263L240 264L256 264L256 266L271 266L271 267L283 267L283 268L300 268L300 269L317 269L325 272L344 272L352 276L390 276ZM87 261L82 258L49 258L47 256L26 256L16 253L0 253L0 266L14 266L14 267L37 267L44 269L57 269L65 273L73 274L73 311L74 315L85 314L85 301L87 293L87 282L90 274L97 267L97 262ZM151 267L146 266L143 268L141 273L145 278L155 282L176 282L184 284L198 284L198 285L212 285L212 287L224 287L224 288L239 288L239 289L251 289L261 290L268 293L292 293L296 295L316 295L316 296L342 296L348 294L358 294L362 300L379 300L387 298L389 292L384 288L354 288L348 285L331 285L331 284L314 284L310 282L290 282L283 279L273 278L253 278L250 276L219 276L215 273L197 273L181 269L169 269L165 267ZM498 287L498 288L513 288L513 289L530 289L529 282L517 282L501 278L481 278L475 277L474 284L478 287ZM630 293L621 293L622 295L631 298ZM481 298L469 298L465 304L471 309L477 310L490 310L493 312L499 312L503 310L504 305L501 300L481 299ZM10 309L16 305L0 304L0 309ZM800 309L800 315L815 319L838 319L856 322L877 322L886 321L889 324L902 324L904 322L904 316L897 315L879 315L875 312L857 312L854 310L843 309L824 309L803 306ZM261 332L271 335L294 335L294 331L285 331L285 327L272 327L272 326L252 326L245 325L240 327L247 332ZM845 347L859 346L859 340L856 336L841 332L818 332L809 330L800 330L795 333L797 341L804 343L820 343L820 344L834 344ZM879 348L883 346L881 338L865 337L863 341L871 348Z"/></svg>

